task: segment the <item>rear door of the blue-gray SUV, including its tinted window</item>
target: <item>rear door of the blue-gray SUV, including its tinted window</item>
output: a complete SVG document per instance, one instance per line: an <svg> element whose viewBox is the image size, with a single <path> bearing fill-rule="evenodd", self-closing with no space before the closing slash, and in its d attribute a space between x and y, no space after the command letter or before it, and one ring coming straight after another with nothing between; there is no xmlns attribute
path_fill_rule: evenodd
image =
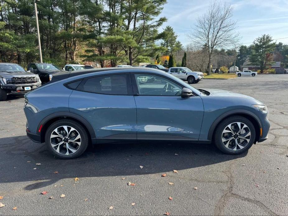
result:
<svg viewBox="0 0 288 216"><path fill-rule="evenodd" d="M97 143L137 139L136 105L129 73L83 79L69 97L69 110L90 122Z"/></svg>

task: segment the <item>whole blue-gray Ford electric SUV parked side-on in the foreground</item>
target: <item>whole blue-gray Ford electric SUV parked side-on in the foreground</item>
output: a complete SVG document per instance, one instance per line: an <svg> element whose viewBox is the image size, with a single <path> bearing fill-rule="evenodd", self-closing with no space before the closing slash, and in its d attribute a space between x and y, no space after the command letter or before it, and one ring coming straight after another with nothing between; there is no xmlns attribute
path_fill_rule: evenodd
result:
<svg viewBox="0 0 288 216"><path fill-rule="evenodd" d="M140 140L215 143L240 154L267 139L267 107L252 97L195 89L152 68L101 68L59 73L25 95L26 132L60 158L89 143Z"/></svg>

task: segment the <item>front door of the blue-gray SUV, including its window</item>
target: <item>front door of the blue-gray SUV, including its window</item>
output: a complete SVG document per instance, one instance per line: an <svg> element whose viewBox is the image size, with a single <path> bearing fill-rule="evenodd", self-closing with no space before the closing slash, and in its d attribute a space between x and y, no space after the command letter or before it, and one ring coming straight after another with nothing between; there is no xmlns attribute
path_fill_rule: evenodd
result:
<svg viewBox="0 0 288 216"><path fill-rule="evenodd" d="M154 82L139 82L143 76ZM182 86L161 75L131 73L131 77L137 108L137 139L199 139L204 113L200 96L182 98Z"/></svg>

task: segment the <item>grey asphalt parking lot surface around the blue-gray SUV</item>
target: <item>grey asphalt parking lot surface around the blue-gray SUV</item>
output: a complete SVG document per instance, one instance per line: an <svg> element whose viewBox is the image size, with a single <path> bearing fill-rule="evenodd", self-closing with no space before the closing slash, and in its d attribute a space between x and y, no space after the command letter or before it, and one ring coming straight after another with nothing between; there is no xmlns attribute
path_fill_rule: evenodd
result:
<svg viewBox="0 0 288 216"><path fill-rule="evenodd" d="M97 145L60 160L26 137L24 98L1 101L0 215L287 215L288 74L193 86L264 102L269 139L239 156L213 145L135 143Z"/></svg>

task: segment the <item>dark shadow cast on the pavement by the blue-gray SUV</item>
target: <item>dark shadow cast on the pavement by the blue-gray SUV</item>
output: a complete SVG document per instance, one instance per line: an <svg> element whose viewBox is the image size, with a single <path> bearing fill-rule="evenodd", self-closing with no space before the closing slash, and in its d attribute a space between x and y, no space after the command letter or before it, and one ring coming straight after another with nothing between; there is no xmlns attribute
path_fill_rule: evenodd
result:
<svg viewBox="0 0 288 216"><path fill-rule="evenodd" d="M53 185L64 178L165 173L246 156L222 154L213 144L147 142L96 145L78 158L63 160L53 157L45 143L33 143L26 136L1 138L0 147L0 183L27 181L25 190Z"/></svg>

